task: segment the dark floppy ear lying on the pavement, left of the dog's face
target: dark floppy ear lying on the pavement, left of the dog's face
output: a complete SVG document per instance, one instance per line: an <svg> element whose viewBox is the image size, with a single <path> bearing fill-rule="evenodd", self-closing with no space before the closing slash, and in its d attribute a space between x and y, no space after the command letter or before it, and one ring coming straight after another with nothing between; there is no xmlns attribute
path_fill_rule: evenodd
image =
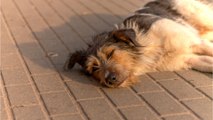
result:
<svg viewBox="0 0 213 120"><path fill-rule="evenodd" d="M74 67L75 63L78 63L82 67L85 66L86 62L86 52L85 51L76 51L69 55L69 58L64 64L64 70L70 70Z"/></svg>

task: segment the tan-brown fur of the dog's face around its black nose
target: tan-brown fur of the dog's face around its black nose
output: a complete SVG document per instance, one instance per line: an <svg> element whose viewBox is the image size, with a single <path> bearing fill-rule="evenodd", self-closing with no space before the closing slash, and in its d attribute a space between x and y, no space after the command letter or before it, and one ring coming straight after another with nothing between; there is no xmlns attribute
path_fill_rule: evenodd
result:
<svg viewBox="0 0 213 120"><path fill-rule="evenodd" d="M125 39L124 36L121 38ZM136 82L135 80L130 80L133 76L132 66L135 63L130 54L131 52L120 50L116 45L103 46L98 50L96 57L93 55L88 57L86 69L94 78L100 80L100 83L108 87L119 86L126 79L129 79L129 82ZM113 85L107 83L105 80L106 71L117 76L117 83Z"/></svg>

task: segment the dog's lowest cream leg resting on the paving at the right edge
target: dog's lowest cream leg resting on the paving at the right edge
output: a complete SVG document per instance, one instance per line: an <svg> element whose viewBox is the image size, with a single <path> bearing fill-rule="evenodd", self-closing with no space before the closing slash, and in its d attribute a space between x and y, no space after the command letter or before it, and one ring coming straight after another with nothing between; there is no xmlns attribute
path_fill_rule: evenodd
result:
<svg viewBox="0 0 213 120"><path fill-rule="evenodd" d="M187 64L201 72L213 72L213 57L210 56L191 56L187 60Z"/></svg>

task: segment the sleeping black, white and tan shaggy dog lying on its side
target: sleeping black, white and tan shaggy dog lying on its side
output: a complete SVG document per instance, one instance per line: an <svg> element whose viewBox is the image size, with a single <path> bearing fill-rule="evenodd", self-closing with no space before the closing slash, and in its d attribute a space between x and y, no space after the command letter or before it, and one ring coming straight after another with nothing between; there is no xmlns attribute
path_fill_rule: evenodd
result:
<svg viewBox="0 0 213 120"><path fill-rule="evenodd" d="M155 0L115 29L94 37L86 50L69 55L64 68L83 70L115 88L156 71L213 70L213 8L207 1Z"/></svg>

